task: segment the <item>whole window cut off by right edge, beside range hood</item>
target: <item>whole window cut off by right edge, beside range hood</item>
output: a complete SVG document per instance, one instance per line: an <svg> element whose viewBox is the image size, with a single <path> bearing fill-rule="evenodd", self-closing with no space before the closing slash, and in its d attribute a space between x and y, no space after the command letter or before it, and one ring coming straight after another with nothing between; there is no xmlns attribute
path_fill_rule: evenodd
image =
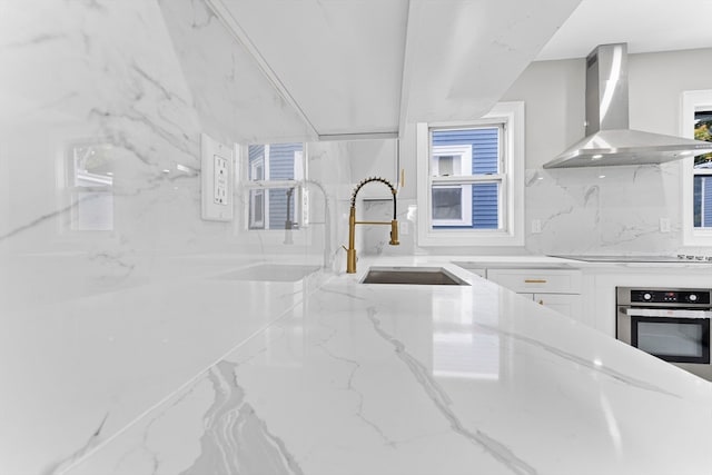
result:
<svg viewBox="0 0 712 475"><path fill-rule="evenodd" d="M712 141L712 90L682 95L682 135ZM712 245L712 154L683 160L683 244Z"/></svg>

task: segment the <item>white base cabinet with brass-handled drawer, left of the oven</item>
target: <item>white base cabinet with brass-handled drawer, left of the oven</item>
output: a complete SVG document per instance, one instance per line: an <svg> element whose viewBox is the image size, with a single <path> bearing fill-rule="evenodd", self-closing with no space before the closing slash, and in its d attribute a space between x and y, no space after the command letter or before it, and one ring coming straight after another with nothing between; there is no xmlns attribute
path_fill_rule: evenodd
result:
<svg viewBox="0 0 712 475"><path fill-rule="evenodd" d="M577 269L487 269L486 277L572 318L581 318L581 270Z"/></svg>

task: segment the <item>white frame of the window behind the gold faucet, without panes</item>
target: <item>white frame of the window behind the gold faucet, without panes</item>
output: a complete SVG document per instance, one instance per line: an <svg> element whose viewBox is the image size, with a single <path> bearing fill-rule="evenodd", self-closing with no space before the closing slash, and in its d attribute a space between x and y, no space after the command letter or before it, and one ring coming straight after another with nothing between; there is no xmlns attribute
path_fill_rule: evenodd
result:
<svg viewBox="0 0 712 475"><path fill-rule="evenodd" d="M484 127L503 123L500 174L465 177L471 184L500 185L500 229L433 229L432 186L448 181L462 184L464 177L437 177L431 170L431 130L437 128ZM524 246L524 102L500 102L482 119L467 122L416 125L418 246Z"/></svg>

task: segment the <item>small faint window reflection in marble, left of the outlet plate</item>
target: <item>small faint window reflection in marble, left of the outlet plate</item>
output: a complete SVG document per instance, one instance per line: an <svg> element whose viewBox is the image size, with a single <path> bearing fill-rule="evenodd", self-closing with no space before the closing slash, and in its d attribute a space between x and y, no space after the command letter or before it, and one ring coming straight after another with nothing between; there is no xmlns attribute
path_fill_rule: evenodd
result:
<svg viewBox="0 0 712 475"><path fill-rule="evenodd" d="M69 229L113 229L113 159L107 144L77 144L67 152L67 188L71 202Z"/></svg>

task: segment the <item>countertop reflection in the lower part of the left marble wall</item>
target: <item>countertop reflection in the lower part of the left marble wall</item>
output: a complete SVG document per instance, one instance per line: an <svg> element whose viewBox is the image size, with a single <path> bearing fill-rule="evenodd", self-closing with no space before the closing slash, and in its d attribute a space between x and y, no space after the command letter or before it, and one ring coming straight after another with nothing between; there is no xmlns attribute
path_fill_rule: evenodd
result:
<svg viewBox="0 0 712 475"><path fill-rule="evenodd" d="M236 278L256 267L38 305L3 319L0 473L65 466L92 434L116 434L299 306L320 278L289 281L279 269L271 280L260 270L255 280Z"/></svg>

